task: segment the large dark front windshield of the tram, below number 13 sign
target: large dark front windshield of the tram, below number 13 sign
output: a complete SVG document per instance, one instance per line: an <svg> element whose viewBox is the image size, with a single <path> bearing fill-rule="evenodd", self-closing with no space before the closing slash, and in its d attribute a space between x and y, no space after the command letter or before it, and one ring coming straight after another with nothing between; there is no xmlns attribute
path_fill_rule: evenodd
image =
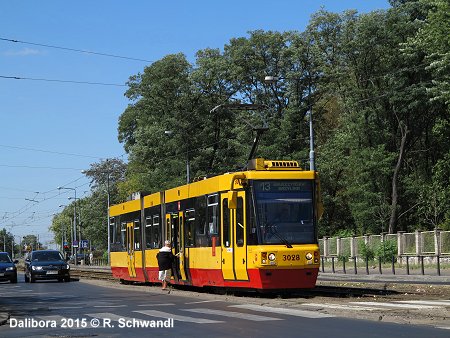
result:
<svg viewBox="0 0 450 338"><path fill-rule="evenodd" d="M312 180L254 181L261 244L315 243Z"/></svg>

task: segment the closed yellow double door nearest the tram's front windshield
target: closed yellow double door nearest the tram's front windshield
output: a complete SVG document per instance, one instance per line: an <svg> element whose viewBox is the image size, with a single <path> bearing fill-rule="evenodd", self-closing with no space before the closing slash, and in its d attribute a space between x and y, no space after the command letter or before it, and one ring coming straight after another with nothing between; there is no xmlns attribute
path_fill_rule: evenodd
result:
<svg viewBox="0 0 450 338"><path fill-rule="evenodd" d="M236 194L235 208L229 208L228 195L221 197L222 275L227 280L248 280L244 192Z"/></svg>

